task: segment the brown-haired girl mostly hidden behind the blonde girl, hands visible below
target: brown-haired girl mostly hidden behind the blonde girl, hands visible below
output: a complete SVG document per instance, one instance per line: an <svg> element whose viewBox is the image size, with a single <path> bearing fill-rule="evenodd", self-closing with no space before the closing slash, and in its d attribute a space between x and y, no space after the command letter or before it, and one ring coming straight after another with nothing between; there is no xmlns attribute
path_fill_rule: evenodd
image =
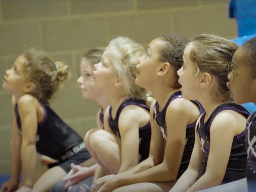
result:
<svg viewBox="0 0 256 192"><path fill-rule="evenodd" d="M88 52L86 52L86 54L84 54L80 62L81 76L77 80L83 97L85 99L96 100L101 106L96 116L97 128L95 129L97 130L104 129L103 116L109 103L107 98L104 96L102 90L92 86L91 82L94 77L94 64L100 62L104 50L105 48L95 48L89 50ZM91 186L92 184L93 174L96 165L97 164L88 167L84 164L71 164L72 169L70 170L70 172L65 176L63 181L58 182L52 187L51 192L75 192L79 191L81 187L87 191L90 191L89 186Z"/></svg>

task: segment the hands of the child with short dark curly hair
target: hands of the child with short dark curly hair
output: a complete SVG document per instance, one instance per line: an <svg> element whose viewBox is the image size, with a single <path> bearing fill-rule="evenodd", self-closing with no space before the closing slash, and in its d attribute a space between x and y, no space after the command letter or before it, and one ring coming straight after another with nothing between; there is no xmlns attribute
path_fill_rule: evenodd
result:
<svg viewBox="0 0 256 192"><path fill-rule="evenodd" d="M116 175L112 174L112 175L106 175L101 178L98 178L97 180L92 182L91 192L114 190L115 189L114 184L116 184L115 179L114 179L115 176ZM108 186L111 186L112 188L109 188Z"/></svg>

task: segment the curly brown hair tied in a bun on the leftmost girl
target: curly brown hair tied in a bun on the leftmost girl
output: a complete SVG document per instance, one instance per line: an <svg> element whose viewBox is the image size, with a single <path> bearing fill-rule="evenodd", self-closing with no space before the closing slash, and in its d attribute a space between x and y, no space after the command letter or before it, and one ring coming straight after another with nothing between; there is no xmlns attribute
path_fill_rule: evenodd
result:
<svg viewBox="0 0 256 192"><path fill-rule="evenodd" d="M26 49L23 56L26 59L26 79L35 84L30 94L43 104L48 104L48 100L56 93L59 85L68 78L68 66L62 62L52 62L46 54L35 48Z"/></svg>

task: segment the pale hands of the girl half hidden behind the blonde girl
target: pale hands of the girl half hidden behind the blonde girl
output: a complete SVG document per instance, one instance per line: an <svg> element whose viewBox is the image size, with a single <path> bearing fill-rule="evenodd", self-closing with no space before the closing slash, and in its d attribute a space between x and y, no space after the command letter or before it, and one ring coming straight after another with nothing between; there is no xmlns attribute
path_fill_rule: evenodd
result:
<svg viewBox="0 0 256 192"><path fill-rule="evenodd" d="M68 174L63 178L63 181L67 183L64 185L64 189L69 189L75 184L81 182L82 180L88 178L88 167L82 167L80 165L71 164L71 170Z"/></svg>

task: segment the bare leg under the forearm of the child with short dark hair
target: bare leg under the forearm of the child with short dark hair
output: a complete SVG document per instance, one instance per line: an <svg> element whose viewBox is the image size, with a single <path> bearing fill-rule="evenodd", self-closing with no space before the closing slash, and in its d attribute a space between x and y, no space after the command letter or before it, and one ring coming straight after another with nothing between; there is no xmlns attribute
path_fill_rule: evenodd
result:
<svg viewBox="0 0 256 192"><path fill-rule="evenodd" d="M176 180L159 183L136 183L115 189L113 192L168 192L176 183Z"/></svg>

